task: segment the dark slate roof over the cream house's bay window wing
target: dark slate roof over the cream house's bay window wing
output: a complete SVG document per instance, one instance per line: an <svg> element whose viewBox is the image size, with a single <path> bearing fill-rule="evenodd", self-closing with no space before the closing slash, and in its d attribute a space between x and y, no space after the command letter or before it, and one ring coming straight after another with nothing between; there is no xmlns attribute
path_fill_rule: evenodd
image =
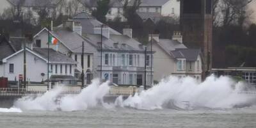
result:
<svg viewBox="0 0 256 128"><path fill-rule="evenodd" d="M176 49L171 51L174 58L185 58L188 61L196 61L200 55L200 49Z"/></svg>

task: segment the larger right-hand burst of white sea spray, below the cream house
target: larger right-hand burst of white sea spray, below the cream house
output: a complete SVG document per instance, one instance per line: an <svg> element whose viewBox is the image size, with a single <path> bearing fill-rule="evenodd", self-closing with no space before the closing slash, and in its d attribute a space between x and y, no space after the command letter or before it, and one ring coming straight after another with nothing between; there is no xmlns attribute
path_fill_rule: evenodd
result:
<svg viewBox="0 0 256 128"><path fill-rule="evenodd" d="M203 83L197 83L192 77L179 79L170 76L159 84L130 96L116 106L136 109L182 108L189 102L192 108L233 108L234 106L252 105L255 97L241 95L244 83L235 83L229 77L210 76ZM118 104L117 104L118 103Z"/></svg>

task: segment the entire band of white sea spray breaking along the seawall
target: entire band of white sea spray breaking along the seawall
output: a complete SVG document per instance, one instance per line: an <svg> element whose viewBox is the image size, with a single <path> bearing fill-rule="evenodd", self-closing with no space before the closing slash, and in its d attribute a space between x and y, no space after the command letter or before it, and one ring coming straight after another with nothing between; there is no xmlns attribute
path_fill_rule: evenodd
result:
<svg viewBox="0 0 256 128"><path fill-rule="evenodd" d="M252 106L255 104L255 97L239 94L246 89L245 83L236 83L230 77L210 76L198 83L192 77L170 76L141 93L131 95L127 99L120 96L116 98L117 107L135 109L180 109L184 108L184 103L189 103L189 107L197 108L234 108ZM49 110L54 111L81 111L88 108L103 106L113 108L112 104L103 102L103 97L109 92L107 83L100 83L99 79L93 80L92 84L81 90L77 95L65 95L60 98L57 104L56 99L60 97L61 88L55 88L44 95L37 97L23 97L15 102L15 108L22 110Z"/></svg>

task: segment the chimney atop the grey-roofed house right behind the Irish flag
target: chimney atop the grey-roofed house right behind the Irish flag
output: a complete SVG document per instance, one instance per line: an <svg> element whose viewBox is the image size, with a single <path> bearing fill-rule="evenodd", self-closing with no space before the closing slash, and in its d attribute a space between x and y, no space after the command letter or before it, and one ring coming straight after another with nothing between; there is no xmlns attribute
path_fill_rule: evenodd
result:
<svg viewBox="0 0 256 128"><path fill-rule="evenodd" d="M79 35L82 35L82 26L80 22L67 20L63 24L63 28L70 29L71 31L76 32Z"/></svg>

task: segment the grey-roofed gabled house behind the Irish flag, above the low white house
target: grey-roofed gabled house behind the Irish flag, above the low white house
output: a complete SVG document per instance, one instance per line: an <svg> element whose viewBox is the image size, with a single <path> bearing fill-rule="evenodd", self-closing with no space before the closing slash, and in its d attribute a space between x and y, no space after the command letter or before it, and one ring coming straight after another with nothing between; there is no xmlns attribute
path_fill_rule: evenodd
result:
<svg viewBox="0 0 256 128"><path fill-rule="evenodd" d="M96 45L92 44L88 39L81 36L81 24L74 21L66 21L60 28L55 28L50 31L50 36L58 40L57 45L50 45L50 47L58 52L61 52L77 62L76 77L80 78L82 73L82 45L84 42L84 74L86 83L90 84L93 76L96 76L97 71L93 70L95 63L95 53L97 53ZM36 47L48 47L47 45L48 29L44 28L42 31L34 36L33 44Z"/></svg>

